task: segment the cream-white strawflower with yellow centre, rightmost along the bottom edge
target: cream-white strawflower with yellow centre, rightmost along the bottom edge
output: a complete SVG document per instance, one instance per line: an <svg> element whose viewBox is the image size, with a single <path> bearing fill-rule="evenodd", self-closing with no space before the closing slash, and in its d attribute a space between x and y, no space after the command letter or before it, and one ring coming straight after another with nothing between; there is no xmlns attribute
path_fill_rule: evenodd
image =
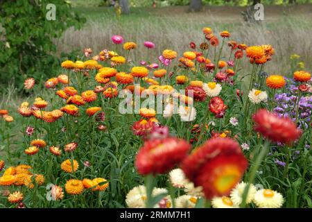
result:
<svg viewBox="0 0 312 222"><path fill-rule="evenodd" d="M284 198L277 191L260 189L254 194L253 201L259 208L279 208L283 205Z"/></svg>

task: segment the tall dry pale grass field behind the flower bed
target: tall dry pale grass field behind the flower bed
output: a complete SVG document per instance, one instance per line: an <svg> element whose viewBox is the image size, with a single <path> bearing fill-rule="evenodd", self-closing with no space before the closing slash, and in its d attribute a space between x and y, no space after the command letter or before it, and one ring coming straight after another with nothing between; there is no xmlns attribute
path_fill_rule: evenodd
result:
<svg viewBox="0 0 312 222"><path fill-rule="evenodd" d="M293 53L301 56L306 69L311 69L312 6L309 4L265 6L265 20L259 24L244 22L241 12L245 7L239 6L205 6L202 12L196 13L187 12L187 6L131 8L130 14L121 15L120 19L116 18L114 8L92 6L92 3L87 8L76 3L74 10L86 17L87 23L78 31L69 28L55 40L59 54L86 47L95 53L112 49L110 37L118 34L123 35L125 41L137 42L138 49L132 52L132 59L156 61L164 49L177 50L181 55L189 42L199 44L203 40L201 30L208 26L214 33L230 31L231 40L237 42L271 44L276 52L268 63L267 71L271 73L285 75ZM143 46L146 40L157 45L150 58L146 58Z"/></svg>

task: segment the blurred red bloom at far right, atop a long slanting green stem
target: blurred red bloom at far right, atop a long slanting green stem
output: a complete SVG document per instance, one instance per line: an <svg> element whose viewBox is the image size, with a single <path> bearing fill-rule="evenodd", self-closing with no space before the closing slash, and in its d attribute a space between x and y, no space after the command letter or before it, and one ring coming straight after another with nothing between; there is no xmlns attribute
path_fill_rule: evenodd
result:
<svg viewBox="0 0 312 222"><path fill-rule="evenodd" d="M302 134L290 118L278 117L277 114L270 113L268 110L259 110L252 119L256 123L254 130L274 142L291 144Z"/></svg>

